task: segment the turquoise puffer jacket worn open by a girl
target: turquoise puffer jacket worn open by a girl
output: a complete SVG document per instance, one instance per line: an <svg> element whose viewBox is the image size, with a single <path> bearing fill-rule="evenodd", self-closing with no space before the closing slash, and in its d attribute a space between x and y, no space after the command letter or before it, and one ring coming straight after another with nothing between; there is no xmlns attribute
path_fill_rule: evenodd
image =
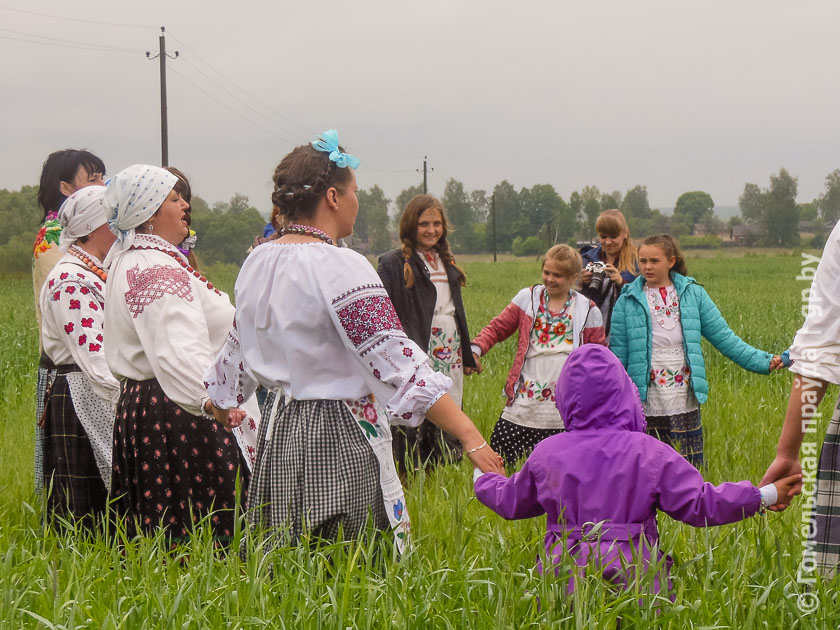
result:
<svg viewBox="0 0 840 630"><path fill-rule="evenodd" d="M701 405L709 397L701 337L708 339L721 354L742 368L759 374L770 373L773 355L753 348L732 332L709 294L694 278L672 271L671 282L680 298L680 325L691 386ZM653 329L644 287L645 278L639 276L621 290L612 314L610 350L639 388L642 400L647 400Z"/></svg>

